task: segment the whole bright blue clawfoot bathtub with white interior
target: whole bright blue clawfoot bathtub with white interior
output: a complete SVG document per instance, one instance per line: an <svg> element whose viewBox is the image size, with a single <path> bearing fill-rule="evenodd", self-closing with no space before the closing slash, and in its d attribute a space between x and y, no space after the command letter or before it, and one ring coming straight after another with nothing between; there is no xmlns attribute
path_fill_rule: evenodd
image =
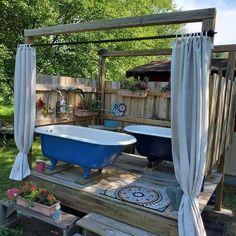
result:
<svg viewBox="0 0 236 236"><path fill-rule="evenodd" d="M136 142L128 134L73 125L43 126L35 132L41 135L42 153L50 159L51 170L58 161L79 165L84 179L91 169L112 165L126 145Z"/></svg>

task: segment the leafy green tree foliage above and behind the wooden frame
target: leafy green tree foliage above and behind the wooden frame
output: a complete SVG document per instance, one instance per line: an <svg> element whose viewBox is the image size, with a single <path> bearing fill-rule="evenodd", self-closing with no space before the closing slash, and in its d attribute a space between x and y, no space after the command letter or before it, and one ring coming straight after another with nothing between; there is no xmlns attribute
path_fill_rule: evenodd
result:
<svg viewBox="0 0 236 236"><path fill-rule="evenodd" d="M23 30L42 26L68 24L137 15L148 15L175 10L171 0L1 0L0 9L0 83L4 97L12 95L16 45L24 42ZM140 27L101 32L38 37L36 43L55 41L87 41L113 38L142 37L172 34L180 26ZM169 47L169 40L149 40L108 44L70 45L37 48L37 70L45 74L97 78L100 48L109 50ZM125 71L157 57L107 59L108 80L124 77ZM4 85L4 86L3 86Z"/></svg>

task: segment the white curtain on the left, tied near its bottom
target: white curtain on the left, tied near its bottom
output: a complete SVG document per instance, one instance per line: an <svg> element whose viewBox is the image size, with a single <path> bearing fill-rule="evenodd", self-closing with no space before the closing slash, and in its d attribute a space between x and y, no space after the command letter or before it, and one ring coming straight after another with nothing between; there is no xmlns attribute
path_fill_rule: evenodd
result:
<svg viewBox="0 0 236 236"><path fill-rule="evenodd" d="M35 127L36 53L30 45L19 45L14 78L14 138L19 153L10 179L22 180L30 174L28 153Z"/></svg>

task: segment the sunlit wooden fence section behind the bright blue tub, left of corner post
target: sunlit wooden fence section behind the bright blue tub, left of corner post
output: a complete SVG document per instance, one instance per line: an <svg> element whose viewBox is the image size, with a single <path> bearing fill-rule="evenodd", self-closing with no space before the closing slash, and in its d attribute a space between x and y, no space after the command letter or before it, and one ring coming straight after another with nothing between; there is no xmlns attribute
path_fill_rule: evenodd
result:
<svg viewBox="0 0 236 236"><path fill-rule="evenodd" d="M36 79L36 126L59 123L74 123L81 125L95 124L95 117L77 117L74 107L81 104L82 89L85 99L96 99L97 81L81 78L52 76L38 74ZM58 112L61 100L59 92L67 103L67 112ZM41 100L41 101L40 101ZM44 106L40 106L40 103Z"/></svg>

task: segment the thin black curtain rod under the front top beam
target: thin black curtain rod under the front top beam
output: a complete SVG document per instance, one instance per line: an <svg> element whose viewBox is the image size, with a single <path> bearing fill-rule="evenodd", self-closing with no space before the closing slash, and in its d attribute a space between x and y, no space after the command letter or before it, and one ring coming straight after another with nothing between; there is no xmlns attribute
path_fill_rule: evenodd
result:
<svg viewBox="0 0 236 236"><path fill-rule="evenodd" d="M32 47L43 47L43 46L61 46L61 45L76 45L76 44L96 44L96 43L112 43L112 42L128 42L128 41L141 41L141 40L152 40L152 39L168 39L168 38L180 38L183 35L207 35L213 37L214 30L197 32L197 33L187 33L187 34L170 34L170 35L159 35L159 36L148 36L148 37L137 37L137 38L120 38L120 39L103 39L103 40L91 40L91 41L74 41L74 42L54 42L54 43L36 43L31 44Z"/></svg>

